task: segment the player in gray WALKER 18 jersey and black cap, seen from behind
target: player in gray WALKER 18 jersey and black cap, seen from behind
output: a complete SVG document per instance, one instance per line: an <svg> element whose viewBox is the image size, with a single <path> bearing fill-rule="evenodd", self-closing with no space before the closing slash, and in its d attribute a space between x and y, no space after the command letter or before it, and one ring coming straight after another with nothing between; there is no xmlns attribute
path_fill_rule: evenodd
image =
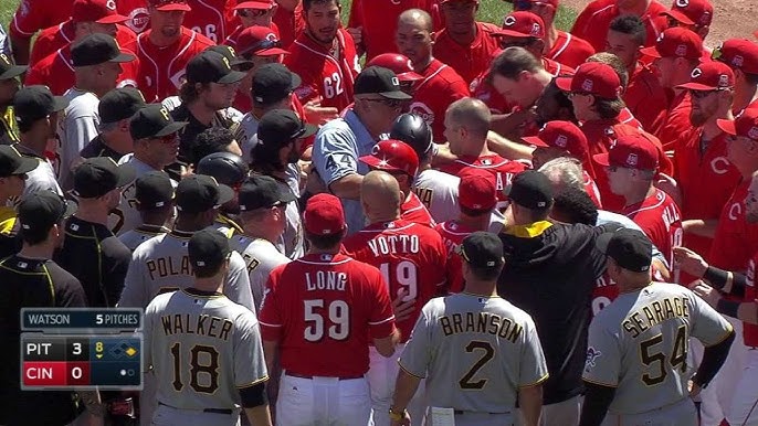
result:
<svg viewBox="0 0 758 426"><path fill-rule="evenodd" d="M145 309L145 365L158 381L152 425L271 426L261 334L255 315L219 289L232 249L218 231L187 244L191 287L156 297Z"/></svg>

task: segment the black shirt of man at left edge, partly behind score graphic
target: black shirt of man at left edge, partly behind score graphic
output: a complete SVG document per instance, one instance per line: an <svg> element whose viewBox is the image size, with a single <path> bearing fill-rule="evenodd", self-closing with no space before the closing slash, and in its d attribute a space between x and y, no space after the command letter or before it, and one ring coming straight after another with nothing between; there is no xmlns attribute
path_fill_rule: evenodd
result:
<svg viewBox="0 0 758 426"><path fill-rule="evenodd" d="M78 280L53 260L0 260L0 425L65 425L77 415L73 392L21 391L21 308L86 306Z"/></svg>

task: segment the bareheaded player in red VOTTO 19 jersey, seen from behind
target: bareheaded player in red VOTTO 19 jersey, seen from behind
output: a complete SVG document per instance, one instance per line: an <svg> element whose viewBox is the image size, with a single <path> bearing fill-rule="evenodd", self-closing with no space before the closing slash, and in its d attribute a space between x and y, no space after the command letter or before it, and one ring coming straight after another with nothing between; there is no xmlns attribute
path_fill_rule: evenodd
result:
<svg viewBox="0 0 758 426"><path fill-rule="evenodd" d="M343 243L350 257L379 268L393 299L412 305L410 312L396 317L401 336L398 351L402 351L421 308L442 294L446 281L442 238L433 230L402 219L402 194L398 181L389 173L377 170L366 174L360 199L369 225ZM367 377L371 388L371 417L375 425L389 425L387 413L398 364L379 354L376 348L369 348L369 351L371 362ZM422 394L420 392L412 404L415 409L411 409L417 425L423 418Z"/></svg>

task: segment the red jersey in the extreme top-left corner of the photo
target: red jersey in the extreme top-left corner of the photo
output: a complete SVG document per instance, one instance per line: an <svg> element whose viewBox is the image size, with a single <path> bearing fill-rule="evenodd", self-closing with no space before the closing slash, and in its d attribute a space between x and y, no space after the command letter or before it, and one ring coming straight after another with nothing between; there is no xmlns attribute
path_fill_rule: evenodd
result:
<svg viewBox="0 0 758 426"><path fill-rule="evenodd" d="M21 0L13 13L9 33L29 39L35 32L59 24L71 18L73 1Z"/></svg>

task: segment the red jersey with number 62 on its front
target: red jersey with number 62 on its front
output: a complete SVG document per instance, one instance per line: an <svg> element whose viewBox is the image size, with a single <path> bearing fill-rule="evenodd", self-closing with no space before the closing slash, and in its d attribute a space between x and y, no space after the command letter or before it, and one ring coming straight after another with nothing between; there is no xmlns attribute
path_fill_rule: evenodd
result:
<svg viewBox="0 0 758 426"><path fill-rule="evenodd" d="M337 30L339 57L329 54L329 47L313 40L303 32L289 46L284 65L303 78L295 94L303 104L316 97L323 107L345 109L352 102L352 83L360 73L352 36L343 29Z"/></svg>

